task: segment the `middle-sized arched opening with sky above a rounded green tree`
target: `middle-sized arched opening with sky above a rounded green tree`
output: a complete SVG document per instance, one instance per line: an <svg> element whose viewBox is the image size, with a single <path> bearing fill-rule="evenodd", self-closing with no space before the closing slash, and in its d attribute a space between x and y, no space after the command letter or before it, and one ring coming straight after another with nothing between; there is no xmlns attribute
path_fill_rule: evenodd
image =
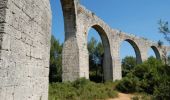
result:
<svg viewBox="0 0 170 100"><path fill-rule="evenodd" d="M125 77L137 64L142 62L141 53L136 43L126 39L121 43L122 77Z"/></svg>

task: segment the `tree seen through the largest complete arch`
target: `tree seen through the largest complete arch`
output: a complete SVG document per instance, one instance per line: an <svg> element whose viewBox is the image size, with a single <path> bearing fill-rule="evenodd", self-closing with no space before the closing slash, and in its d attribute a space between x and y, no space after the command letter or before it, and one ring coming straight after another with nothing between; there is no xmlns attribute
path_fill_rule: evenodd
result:
<svg viewBox="0 0 170 100"><path fill-rule="evenodd" d="M88 42L90 80L101 82L103 80L103 55L104 48L101 42L94 37Z"/></svg>

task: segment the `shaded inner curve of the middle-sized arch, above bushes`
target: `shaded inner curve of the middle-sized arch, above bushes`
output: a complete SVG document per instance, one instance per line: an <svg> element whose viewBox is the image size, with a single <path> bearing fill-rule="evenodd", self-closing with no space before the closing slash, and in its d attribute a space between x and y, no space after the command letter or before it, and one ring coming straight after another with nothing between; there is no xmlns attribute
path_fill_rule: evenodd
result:
<svg viewBox="0 0 170 100"><path fill-rule="evenodd" d="M136 55L136 63L137 64L142 63L141 52L140 52L140 49L138 48L137 44L131 39L125 39L124 41L128 42L133 47L133 49L135 51L135 55Z"/></svg>

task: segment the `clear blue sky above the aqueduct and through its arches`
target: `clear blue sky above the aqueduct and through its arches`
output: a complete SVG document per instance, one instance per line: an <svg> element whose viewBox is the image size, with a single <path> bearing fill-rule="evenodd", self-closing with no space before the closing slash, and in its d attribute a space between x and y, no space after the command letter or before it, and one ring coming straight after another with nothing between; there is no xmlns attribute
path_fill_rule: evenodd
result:
<svg viewBox="0 0 170 100"><path fill-rule="evenodd" d="M153 41L168 43L158 31L160 19L170 21L170 0L80 0L81 4L94 12L110 27L145 37ZM53 13L52 33L64 41L64 22L60 0L50 0ZM94 30L89 38L98 35ZM100 39L97 36L97 39ZM124 51L126 48L126 52ZM128 50L128 51L127 51ZM152 50L148 50L153 55ZM126 42L121 45L121 57L135 56L133 48Z"/></svg>

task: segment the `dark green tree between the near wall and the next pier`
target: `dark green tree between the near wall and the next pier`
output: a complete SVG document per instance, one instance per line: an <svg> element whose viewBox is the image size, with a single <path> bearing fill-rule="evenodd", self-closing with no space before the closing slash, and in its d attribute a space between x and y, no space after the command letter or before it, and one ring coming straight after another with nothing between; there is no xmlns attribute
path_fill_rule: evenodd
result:
<svg viewBox="0 0 170 100"><path fill-rule="evenodd" d="M50 82L62 81L62 44L59 43L55 37L51 36L51 49L50 49Z"/></svg>

